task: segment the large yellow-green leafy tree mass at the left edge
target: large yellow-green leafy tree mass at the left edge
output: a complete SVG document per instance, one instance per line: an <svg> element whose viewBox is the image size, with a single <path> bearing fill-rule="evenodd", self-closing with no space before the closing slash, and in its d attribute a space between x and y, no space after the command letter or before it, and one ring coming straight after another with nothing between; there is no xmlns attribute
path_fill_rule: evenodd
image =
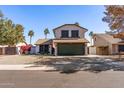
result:
<svg viewBox="0 0 124 93"><path fill-rule="evenodd" d="M12 20L5 19L0 12L0 45L14 46L24 42L24 27L21 24L14 24Z"/></svg>

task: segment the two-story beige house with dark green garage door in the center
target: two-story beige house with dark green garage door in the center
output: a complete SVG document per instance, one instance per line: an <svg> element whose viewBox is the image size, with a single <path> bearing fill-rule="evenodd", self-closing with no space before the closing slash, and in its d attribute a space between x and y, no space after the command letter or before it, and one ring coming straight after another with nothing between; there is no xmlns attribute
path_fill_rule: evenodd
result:
<svg viewBox="0 0 124 93"><path fill-rule="evenodd" d="M39 39L35 45L39 52L54 55L85 55L87 54L87 43L85 32L88 30L78 24L64 24L53 29L54 39Z"/></svg>

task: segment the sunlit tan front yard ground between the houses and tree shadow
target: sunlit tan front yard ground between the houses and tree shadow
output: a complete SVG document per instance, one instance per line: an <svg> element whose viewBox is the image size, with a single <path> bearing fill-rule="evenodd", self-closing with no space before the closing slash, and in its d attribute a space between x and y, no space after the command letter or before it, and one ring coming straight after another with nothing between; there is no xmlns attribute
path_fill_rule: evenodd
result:
<svg viewBox="0 0 124 93"><path fill-rule="evenodd" d="M41 55L0 55L0 65L22 65L32 64L35 62L46 61L73 61L76 59L85 58L118 58L118 56L98 56L98 55L86 55L86 56L41 56ZM124 58L124 56L123 56Z"/></svg>

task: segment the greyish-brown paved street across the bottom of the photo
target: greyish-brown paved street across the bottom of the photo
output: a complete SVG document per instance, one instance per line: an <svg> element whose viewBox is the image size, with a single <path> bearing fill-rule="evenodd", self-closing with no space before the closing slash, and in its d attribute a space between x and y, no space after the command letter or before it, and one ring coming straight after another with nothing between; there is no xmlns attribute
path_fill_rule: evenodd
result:
<svg viewBox="0 0 124 93"><path fill-rule="evenodd" d="M0 71L3 88L124 88L124 72L77 72L60 74L43 71Z"/></svg>

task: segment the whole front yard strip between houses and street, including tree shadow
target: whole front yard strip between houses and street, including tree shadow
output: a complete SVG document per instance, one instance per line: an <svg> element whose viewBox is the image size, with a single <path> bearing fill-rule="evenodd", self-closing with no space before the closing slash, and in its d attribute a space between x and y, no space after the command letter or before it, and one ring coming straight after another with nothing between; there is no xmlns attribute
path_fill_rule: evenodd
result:
<svg viewBox="0 0 124 93"><path fill-rule="evenodd" d="M22 65L24 70L40 69L59 71L60 73L74 73L77 71L99 73L107 70L124 71L124 59L122 57L121 60L118 60L118 56L0 56L1 68L7 67L6 65L10 67L14 65L12 70Z"/></svg>

